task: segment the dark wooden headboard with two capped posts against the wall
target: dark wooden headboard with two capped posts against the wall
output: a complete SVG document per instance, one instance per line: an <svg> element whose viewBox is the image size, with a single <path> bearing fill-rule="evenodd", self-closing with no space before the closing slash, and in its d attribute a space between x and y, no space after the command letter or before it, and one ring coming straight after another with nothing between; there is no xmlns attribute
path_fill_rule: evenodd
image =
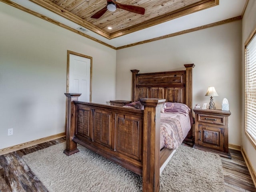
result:
<svg viewBox="0 0 256 192"><path fill-rule="evenodd" d="M185 64L186 70L141 73L132 72L132 102L140 98L160 98L179 102L192 109L192 72L194 64Z"/></svg>

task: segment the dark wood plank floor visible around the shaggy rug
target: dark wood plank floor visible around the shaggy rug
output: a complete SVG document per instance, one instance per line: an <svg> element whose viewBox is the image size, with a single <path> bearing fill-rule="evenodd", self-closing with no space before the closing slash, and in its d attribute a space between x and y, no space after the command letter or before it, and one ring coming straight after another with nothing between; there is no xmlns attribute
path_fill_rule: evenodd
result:
<svg viewBox="0 0 256 192"><path fill-rule="evenodd" d="M48 192L22 156L65 142L64 138L45 142L0 156L0 192ZM256 192L240 151L230 150L232 159L222 158L226 192Z"/></svg>

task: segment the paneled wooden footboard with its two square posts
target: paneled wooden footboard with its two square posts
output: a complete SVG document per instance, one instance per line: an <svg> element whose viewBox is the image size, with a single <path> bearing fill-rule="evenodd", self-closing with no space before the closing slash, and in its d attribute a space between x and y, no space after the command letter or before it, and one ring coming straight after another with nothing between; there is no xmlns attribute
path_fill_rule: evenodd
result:
<svg viewBox="0 0 256 192"><path fill-rule="evenodd" d="M76 144L142 175L143 191L159 191L160 108L163 99L142 99L144 110L77 101L68 97L67 155Z"/></svg>

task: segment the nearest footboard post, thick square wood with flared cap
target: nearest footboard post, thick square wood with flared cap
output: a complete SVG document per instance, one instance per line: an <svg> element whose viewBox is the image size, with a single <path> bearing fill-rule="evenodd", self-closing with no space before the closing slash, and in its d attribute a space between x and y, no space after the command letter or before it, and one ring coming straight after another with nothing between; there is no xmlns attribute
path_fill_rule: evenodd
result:
<svg viewBox="0 0 256 192"><path fill-rule="evenodd" d="M143 98L143 170L142 191L160 190L160 111L165 99Z"/></svg>

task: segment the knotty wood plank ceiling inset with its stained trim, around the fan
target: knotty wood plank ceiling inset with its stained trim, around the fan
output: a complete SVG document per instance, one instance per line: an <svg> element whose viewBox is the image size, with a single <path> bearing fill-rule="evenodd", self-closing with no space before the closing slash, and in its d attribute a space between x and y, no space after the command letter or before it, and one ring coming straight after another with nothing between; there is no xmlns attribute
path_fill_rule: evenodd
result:
<svg viewBox="0 0 256 192"><path fill-rule="evenodd" d="M136 14L117 8L114 12L106 11L103 16L94 19L91 16L104 8L107 0L30 1L108 39L142 30L219 4L219 0L118 0L118 3L145 8L145 14ZM112 27L112 30L108 27Z"/></svg>

